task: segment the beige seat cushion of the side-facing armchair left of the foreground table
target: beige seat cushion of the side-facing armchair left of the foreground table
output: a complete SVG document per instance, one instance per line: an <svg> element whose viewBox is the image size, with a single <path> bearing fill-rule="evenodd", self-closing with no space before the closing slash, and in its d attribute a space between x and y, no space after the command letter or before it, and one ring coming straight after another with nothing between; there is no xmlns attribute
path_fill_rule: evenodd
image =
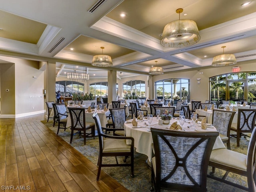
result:
<svg viewBox="0 0 256 192"><path fill-rule="evenodd" d="M125 139L103 140L103 152L130 152L131 146L126 145Z"/></svg>

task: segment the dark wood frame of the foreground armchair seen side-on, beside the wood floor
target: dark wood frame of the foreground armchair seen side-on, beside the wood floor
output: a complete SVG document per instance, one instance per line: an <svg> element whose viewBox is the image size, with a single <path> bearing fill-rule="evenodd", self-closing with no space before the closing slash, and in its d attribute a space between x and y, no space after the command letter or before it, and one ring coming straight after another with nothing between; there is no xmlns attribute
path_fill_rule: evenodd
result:
<svg viewBox="0 0 256 192"><path fill-rule="evenodd" d="M131 167L131 177L134 177L134 138L132 137L126 137L126 136L110 136L110 135L106 135L103 133L102 129L104 130L109 130L108 128L102 128L100 125L100 122L98 122L97 120L97 112L94 112L94 114L92 114L92 117L95 120L95 124L97 127L97 131L98 131L98 137L99 137L99 157L98 157L98 173L97 173L97 177L96 177L96 181L99 180L100 178L100 171L101 171L101 167L117 167L117 166L130 166ZM118 129L116 129L118 130ZM107 139L127 139L127 140L131 140L131 149L130 152L103 152L103 138L107 138ZM118 164L118 160L117 160L117 156L130 156L131 157L131 163L129 164ZM102 157L115 157L116 158L116 164L102 164ZM124 159L124 162L126 162L126 159Z"/></svg>

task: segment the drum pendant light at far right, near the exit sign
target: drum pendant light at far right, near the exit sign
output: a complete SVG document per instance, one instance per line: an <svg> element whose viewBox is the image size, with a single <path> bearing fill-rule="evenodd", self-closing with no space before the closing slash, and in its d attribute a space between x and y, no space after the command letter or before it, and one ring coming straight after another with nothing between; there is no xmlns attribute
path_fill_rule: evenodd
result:
<svg viewBox="0 0 256 192"><path fill-rule="evenodd" d="M212 66L222 67L236 64L237 62L234 54L224 54L224 48L226 48L226 46L222 46L221 48L223 48L223 54L213 58Z"/></svg>

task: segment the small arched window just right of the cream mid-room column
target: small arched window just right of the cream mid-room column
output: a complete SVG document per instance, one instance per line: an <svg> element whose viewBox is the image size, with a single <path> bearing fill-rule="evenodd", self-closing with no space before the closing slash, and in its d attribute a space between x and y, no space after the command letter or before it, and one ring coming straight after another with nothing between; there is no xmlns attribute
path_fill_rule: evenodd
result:
<svg viewBox="0 0 256 192"><path fill-rule="evenodd" d="M123 97L125 94L136 94L138 97L145 97L145 81L132 80L123 83Z"/></svg>

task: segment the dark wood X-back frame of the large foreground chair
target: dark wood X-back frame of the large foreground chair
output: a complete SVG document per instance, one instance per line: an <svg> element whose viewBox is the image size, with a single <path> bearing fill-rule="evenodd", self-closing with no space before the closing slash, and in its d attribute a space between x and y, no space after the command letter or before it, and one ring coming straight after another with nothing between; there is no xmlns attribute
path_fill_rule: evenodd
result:
<svg viewBox="0 0 256 192"><path fill-rule="evenodd" d="M218 132L177 132L174 130L159 130L156 128L151 128L153 144L154 144L154 152L155 152L155 160L156 160L156 167L151 167L151 187L150 191L160 191L161 189L168 189L174 191L194 191L194 192L206 192L206 178L207 178L207 169L208 169L208 162L210 159L210 154L212 152L212 148L214 146L214 142L216 137L218 136ZM195 144L186 151L186 155L184 157L180 157L179 154L176 153L175 149L173 148L172 144L170 144L169 140L167 139L168 136L174 137L186 137L186 138L200 138ZM166 177L161 178L161 171L164 170L165 167L162 167L160 162L161 158L164 156L161 154L160 146L159 146L159 139L164 140L165 146L170 148L172 151L173 156L176 158L175 166L172 170L168 170L169 173L166 173ZM197 183L193 176L188 172L186 162L188 160L189 155L196 150L196 148L202 144L203 142L207 142L204 150L204 155L202 157L202 164L200 168L200 183ZM175 161L175 160L174 160ZM186 185L186 184L179 184L176 182L168 182L168 180L176 173L176 169L181 166L186 172L186 176L190 179L193 185ZM156 170L156 173L154 172ZM156 176L155 176L156 175ZM153 187L154 186L154 187Z"/></svg>

